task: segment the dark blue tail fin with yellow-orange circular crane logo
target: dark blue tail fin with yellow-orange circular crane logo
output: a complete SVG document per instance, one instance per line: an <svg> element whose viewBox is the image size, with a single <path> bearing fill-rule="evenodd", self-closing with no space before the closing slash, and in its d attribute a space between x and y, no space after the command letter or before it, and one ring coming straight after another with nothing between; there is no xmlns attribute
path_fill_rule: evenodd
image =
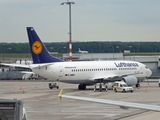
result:
<svg viewBox="0 0 160 120"><path fill-rule="evenodd" d="M63 62L62 60L50 55L33 27L27 27L27 33L34 64Z"/></svg>

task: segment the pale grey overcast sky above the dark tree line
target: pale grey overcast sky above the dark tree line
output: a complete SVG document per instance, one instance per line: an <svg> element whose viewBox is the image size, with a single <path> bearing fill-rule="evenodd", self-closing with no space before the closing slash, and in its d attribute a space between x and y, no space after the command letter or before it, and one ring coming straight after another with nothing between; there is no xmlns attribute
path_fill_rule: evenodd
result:
<svg viewBox="0 0 160 120"><path fill-rule="evenodd" d="M0 0L0 42L69 40L67 0ZM71 1L71 0L70 0ZM160 0L73 0L73 41L160 41Z"/></svg>

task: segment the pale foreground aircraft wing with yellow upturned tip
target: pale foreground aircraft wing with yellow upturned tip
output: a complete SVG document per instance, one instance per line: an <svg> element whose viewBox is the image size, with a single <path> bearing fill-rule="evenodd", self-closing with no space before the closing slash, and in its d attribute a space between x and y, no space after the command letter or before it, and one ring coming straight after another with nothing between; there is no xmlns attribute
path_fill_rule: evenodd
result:
<svg viewBox="0 0 160 120"><path fill-rule="evenodd" d="M138 109L145 109L160 112L160 106L158 105L148 105L148 104L141 104L141 103L133 103L133 102L122 102L122 101L114 101L114 100L106 100L106 99L97 99L97 98L88 98L88 97L78 97L78 96L69 96L69 95L62 95L63 89L61 89L59 93L60 100L62 98L70 98L75 100L83 100L83 101L90 101L102 104L110 104L110 105L117 105L120 108L138 108Z"/></svg>

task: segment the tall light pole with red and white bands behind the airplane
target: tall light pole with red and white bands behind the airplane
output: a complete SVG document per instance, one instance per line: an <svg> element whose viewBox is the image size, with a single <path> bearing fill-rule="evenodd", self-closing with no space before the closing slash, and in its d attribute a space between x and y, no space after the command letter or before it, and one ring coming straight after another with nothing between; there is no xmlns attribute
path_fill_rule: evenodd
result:
<svg viewBox="0 0 160 120"><path fill-rule="evenodd" d="M69 61L72 61L72 33L71 33L71 4L75 4L75 2L62 2L61 5L69 5Z"/></svg>

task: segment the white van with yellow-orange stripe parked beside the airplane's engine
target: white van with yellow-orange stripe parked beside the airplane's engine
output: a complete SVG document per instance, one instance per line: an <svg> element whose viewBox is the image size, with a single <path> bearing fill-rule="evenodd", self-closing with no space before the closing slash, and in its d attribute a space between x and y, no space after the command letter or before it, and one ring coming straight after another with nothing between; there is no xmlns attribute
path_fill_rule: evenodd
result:
<svg viewBox="0 0 160 120"><path fill-rule="evenodd" d="M133 92L134 89L131 86L128 86L125 82L123 81L117 81L113 84L113 90L115 92L121 91L121 92Z"/></svg>

